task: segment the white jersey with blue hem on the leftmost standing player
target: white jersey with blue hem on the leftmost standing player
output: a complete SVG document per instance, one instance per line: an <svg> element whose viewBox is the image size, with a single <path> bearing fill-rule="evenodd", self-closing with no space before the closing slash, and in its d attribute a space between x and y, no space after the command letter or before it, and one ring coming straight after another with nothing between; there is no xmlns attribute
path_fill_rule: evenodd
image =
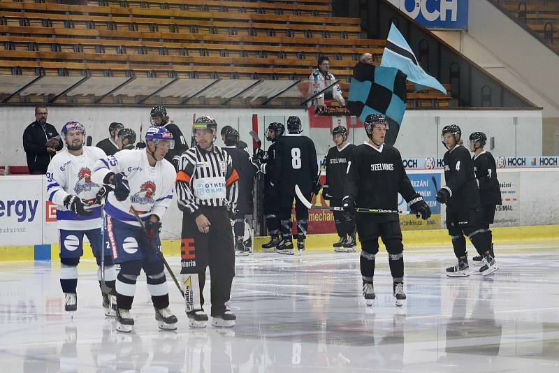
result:
<svg viewBox="0 0 559 373"><path fill-rule="evenodd" d="M94 200L102 184L92 181L92 170L99 159L106 156L98 147L82 147L75 156L64 149L50 161L47 170L47 197L57 204L58 228L68 231L86 231L101 228L101 206L91 205L85 210L93 214L82 216L64 207L64 198L75 195L82 200Z"/></svg>

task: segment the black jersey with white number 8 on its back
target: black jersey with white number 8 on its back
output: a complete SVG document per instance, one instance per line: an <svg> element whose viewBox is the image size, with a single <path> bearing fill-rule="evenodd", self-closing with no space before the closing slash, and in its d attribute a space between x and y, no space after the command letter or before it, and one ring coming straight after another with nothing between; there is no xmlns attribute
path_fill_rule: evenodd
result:
<svg viewBox="0 0 559 373"><path fill-rule="evenodd" d="M277 139L274 182L281 193L295 194L295 185L310 193L317 182L319 166L314 142L307 136L289 133Z"/></svg>

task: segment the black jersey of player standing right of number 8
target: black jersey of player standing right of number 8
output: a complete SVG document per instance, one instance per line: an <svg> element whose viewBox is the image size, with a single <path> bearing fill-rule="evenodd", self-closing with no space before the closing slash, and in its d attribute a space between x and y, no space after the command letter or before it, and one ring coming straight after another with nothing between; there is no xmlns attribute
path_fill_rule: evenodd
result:
<svg viewBox="0 0 559 373"><path fill-rule="evenodd" d="M342 149L331 147L326 154L326 185L328 197L344 198L344 185L347 175L347 163L351 160L351 152L356 146L346 144Z"/></svg>

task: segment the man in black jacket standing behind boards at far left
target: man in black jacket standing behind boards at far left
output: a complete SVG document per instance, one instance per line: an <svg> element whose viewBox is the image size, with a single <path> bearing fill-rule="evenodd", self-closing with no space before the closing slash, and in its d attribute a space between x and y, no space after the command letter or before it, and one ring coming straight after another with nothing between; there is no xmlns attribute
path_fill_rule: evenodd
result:
<svg viewBox="0 0 559 373"><path fill-rule="evenodd" d="M60 136L50 123L47 123L48 108L38 105L35 108L35 122L23 132L23 149L27 156L30 174L44 175L48 164L57 151L62 149Z"/></svg>

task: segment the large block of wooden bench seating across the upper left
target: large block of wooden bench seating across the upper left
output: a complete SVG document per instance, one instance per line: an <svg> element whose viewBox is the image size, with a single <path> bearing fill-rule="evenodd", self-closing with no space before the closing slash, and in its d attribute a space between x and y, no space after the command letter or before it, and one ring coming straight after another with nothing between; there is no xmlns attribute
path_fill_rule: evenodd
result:
<svg viewBox="0 0 559 373"><path fill-rule="evenodd" d="M331 1L0 0L0 74L305 79L317 59L347 87L358 57L379 63L384 40ZM450 94L410 92L409 107Z"/></svg>

